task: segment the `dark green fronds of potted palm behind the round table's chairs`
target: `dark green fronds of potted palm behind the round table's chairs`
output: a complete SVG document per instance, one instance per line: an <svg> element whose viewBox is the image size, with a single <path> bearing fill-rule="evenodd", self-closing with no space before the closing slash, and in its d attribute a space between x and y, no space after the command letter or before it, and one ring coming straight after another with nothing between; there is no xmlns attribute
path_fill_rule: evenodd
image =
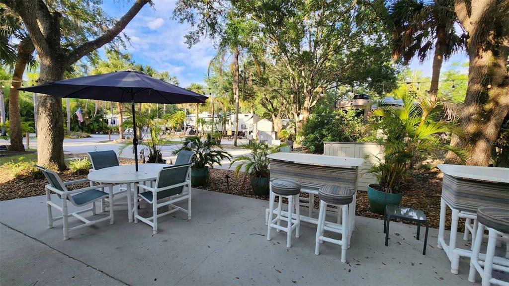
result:
<svg viewBox="0 0 509 286"><path fill-rule="evenodd" d="M184 140L182 147L175 150L173 155L177 155L182 150L194 151L196 154L192 157L193 168L213 167L214 164L222 165L222 160L231 161L230 153L224 151L217 143L217 140L207 134L205 138L199 136L189 136Z"/></svg>

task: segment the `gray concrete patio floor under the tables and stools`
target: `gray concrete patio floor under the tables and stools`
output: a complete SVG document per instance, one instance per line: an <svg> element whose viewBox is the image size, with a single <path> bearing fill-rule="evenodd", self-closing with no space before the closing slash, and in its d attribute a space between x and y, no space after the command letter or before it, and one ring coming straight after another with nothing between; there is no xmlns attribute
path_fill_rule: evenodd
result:
<svg viewBox="0 0 509 286"><path fill-rule="evenodd" d="M74 275L75 284L472 284L467 280L467 260L462 259L459 275L450 273L445 253L436 248L435 229L430 230L427 254L422 255L423 241L415 239L415 226L391 223L386 247L383 222L357 217L348 263L343 264L337 245L325 243L321 254L314 254L314 225L302 224L301 237L293 239L292 248L286 248L284 233L274 232L272 241L267 241L267 206L267 201L193 189L192 219L188 221L183 213L163 217L157 235L142 222L128 223L127 212L120 209L114 225L104 222L81 228L64 241L61 222L46 228L43 196L0 202L4 225L0 282L69 284ZM142 213L147 211L142 208ZM52 267L61 262L65 269Z"/></svg>

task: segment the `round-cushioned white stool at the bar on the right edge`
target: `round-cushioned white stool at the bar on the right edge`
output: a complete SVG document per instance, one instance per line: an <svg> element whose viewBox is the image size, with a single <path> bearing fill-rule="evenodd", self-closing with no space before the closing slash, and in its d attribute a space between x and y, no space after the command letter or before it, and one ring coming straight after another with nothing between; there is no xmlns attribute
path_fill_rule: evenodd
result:
<svg viewBox="0 0 509 286"><path fill-rule="evenodd" d="M495 244L498 239L509 241L509 210L497 207L484 207L477 209L477 232L472 256L470 257L470 273L468 281L475 282L475 272L481 278L483 286L490 283L509 285L509 282L492 277L492 270L509 273L509 259L495 256ZM480 246L483 244L485 227L488 228L488 247L485 260L479 259ZM507 276L506 276L507 277Z"/></svg>

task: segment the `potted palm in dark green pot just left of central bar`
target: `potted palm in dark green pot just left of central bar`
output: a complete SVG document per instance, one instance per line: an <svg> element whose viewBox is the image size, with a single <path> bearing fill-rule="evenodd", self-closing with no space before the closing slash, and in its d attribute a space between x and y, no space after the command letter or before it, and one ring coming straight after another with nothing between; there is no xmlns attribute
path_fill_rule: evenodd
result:
<svg viewBox="0 0 509 286"><path fill-rule="evenodd" d="M249 155L241 155L236 157L230 163L230 167L234 163L239 163L235 167L235 176L239 177L240 170L244 167L244 172L251 177L251 187L256 195L268 195L270 184L270 159L267 155L276 153L279 146L271 147L259 141L253 141L249 144L242 144L241 147L249 149Z"/></svg>

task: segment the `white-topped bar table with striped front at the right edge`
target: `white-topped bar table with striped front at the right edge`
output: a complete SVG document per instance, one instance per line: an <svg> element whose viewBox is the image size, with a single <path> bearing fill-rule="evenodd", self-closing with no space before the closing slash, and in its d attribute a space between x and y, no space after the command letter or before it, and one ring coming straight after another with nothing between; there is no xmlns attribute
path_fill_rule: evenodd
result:
<svg viewBox="0 0 509 286"><path fill-rule="evenodd" d="M481 207L509 208L509 168L439 164L443 173L440 198L438 248L443 249L451 262L450 272L458 274L460 256L470 257L470 249L456 245L459 218L467 219L464 239L472 234L472 245L477 229L476 211ZM452 210L449 244L445 242L446 209ZM470 225L470 221L474 225ZM484 259L484 255L479 255Z"/></svg>

